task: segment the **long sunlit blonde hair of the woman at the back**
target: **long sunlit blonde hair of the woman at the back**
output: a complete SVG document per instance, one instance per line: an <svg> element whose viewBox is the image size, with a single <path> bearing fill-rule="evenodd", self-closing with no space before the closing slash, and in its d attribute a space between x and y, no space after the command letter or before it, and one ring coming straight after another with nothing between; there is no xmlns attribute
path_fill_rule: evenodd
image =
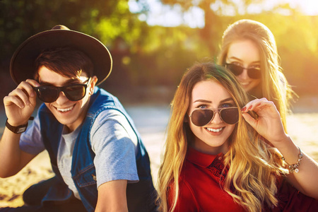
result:
<svg viewBox="0 0 318 212"><path fill-rule="evenodd" d="M255 20L242 19L232 23L224 31L218 64L225 64L228 49L232 42L237 40L251 40L259 48L261 57L261 96L274 102L281 114L284 129L286 131L286 115L290 109L290 100L293 98L293 90L283 75L276 47L275 37L266 25ZM253 93L253 90L250 94Z"/></svg>

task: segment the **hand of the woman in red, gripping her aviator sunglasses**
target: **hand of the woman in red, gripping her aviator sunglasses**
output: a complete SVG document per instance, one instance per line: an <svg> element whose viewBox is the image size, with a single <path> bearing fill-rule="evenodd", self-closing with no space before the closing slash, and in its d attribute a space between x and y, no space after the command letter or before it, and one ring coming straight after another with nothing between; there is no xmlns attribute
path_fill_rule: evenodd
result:
<svg viewBox="0 0 318 212"><path fill-rule="evenodd" d="M258 118L254 119L247 112L254 111ZM242 108L242 116L261 136L275 143L286 139L287 135L283 129L281 115L273 102L266 98L252 100Z"/></svg>

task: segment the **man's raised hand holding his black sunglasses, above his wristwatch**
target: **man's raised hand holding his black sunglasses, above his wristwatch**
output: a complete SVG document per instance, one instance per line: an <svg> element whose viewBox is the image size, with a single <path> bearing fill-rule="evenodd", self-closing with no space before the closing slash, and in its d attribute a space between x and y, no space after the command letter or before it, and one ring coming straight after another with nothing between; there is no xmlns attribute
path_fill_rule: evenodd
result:
<svg viewBox="0 0 318 212"><path fill-rule="evenodd" d="M12 126L26 124L31 117L37 98L33 90L35 86L40 86L37 81L31 79L22 81L16 89L4 97L6 117Z"/></svg>

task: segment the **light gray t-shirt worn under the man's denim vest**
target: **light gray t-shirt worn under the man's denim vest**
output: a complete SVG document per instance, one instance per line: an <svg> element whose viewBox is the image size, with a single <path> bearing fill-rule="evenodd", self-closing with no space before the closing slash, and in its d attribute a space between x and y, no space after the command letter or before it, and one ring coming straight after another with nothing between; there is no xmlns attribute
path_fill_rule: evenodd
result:
<svg viewBox="0 0 318 212"><path fill-rule="evenodd" d="M78 129L70 134L62 135L57 154L59 171L69 189L78 199L78 192L71 179L71 157L80 129L81 126L78 126ZM137 136L121 112L117 110L102 111L96 117L90 131L90 142L95 153L97 188L105 182L117 179L126 179L129 183L139 181L135 157ZM20 149L33 155L45 150L38 117L35 117L27 131L21 135Z"/></svg>

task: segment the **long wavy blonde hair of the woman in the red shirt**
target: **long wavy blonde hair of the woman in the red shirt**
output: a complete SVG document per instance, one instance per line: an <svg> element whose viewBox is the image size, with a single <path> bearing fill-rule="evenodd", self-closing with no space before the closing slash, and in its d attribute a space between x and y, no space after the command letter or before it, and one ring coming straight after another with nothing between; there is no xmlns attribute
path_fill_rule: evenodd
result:
<svg viewBox="0 0 318 212"><path fill-rule="evenodd" d="M185 122L185 117L194 85L206 80L220 83L228 90L239 108L249 101L235 76L223 66L212 63L195 64L184 74L172 100L165 154L158 174L160 211L174 211L177 205L179 175L187 154L187 146L192 139L192 132L189 124ZM264 142L241 115L229 140L230 147L224 157L225 167L229 167L229 170L223 189L248 211L261 211L264 204L277 205L276 176L285 173L285 170L276 148ZM173 194L169 194L171 186L174 187ZM172 206L168 206L167 196L173 196Z"/></svg>

